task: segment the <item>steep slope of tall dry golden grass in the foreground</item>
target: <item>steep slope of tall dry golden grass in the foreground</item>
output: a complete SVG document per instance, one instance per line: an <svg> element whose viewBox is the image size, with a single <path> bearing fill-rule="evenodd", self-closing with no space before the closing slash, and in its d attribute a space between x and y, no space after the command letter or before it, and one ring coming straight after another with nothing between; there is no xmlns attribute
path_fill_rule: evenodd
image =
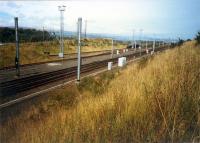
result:
<svg viewBox="0 0 200 143"><path fill-rule="evenodd" d="M51 91L2 124L2 142L200 142L199 55L187 42Z"/></svg>

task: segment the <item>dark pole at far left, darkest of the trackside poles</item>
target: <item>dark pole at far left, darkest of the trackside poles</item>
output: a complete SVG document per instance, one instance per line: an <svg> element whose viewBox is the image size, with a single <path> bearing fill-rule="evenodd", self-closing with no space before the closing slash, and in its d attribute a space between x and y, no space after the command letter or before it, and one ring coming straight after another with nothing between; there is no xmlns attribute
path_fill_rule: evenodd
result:
<svg viewBox="0 0 200 143"><path fill-rule="evenodd" d="M15 43L16 43L16 55L15 55L15 68L16 76L20 76L20 63L19 63L19 35L18 35L18 17L15 17Z"/></svg>

